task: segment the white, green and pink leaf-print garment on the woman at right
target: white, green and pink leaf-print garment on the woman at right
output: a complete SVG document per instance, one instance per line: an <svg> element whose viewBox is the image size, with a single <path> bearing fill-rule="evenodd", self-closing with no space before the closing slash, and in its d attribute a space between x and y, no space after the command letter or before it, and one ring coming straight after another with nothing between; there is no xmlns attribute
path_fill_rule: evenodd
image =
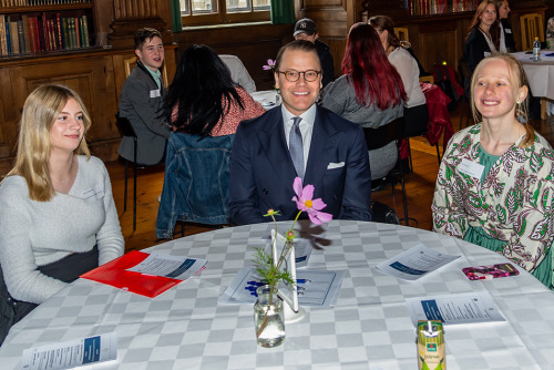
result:
<svg viewBox="0 0 554 370"><path fill-rule="evenodd" d="M470 241L497 249L550 287L550 267L540 276L537 268L550 258L554 239L554 152L538 134L533 145L519 147L522 136L481 181L480 134L481 124L460 131L444 152L431 207L433 229L459 238L470 232Z"/></svg>

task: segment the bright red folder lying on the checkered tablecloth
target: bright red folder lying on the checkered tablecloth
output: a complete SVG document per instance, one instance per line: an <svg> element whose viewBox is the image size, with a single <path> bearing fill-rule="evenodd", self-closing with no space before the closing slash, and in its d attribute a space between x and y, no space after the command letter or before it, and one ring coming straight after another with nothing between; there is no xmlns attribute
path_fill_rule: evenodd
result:
<svg viewBox="0 0 554 370"><path fill-rule="evenodd" d="M126 271L127 268L138 265L148 257L147 253L131 250L105 265L96 267L81 275L82 278L111 285L115 288L129 290L141 296L154 298L170 289L181 280L161 276L142 275Z"/></svg>

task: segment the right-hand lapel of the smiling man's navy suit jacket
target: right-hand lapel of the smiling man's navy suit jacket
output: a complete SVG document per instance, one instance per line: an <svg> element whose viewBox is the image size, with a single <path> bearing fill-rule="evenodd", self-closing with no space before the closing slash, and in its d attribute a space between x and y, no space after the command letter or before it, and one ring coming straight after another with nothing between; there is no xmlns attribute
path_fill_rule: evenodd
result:
<svg viewBox="0 0 554 370"><path fill-rule="evenodd" d="M304 184L312 184L316 188L327 171L331 161L336 161L336 153L339 146L341 134L328 120L327 114L321 114L318 107L316 121L314 122L314 132L311 134L310 153Z"/></svg>

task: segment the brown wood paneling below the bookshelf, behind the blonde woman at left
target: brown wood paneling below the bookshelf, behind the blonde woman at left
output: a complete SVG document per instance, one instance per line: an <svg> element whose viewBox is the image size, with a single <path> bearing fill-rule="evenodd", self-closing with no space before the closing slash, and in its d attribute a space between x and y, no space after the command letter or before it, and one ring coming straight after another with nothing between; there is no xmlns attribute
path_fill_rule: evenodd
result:
<svg viewBox="0 0 554 370"><path fill-rule="evenodd" d="M175 75L175 49L166 45L170 80ZM123 60L131 49L99 49L74 54L3 60L0 64L0 174L11 167L16 154L18 123L27 96L39 85L53 82L74 89L91 114L86 135L91 151L104 161L117 158L120 133L115 126L121 86L125 82Z"/></svg>

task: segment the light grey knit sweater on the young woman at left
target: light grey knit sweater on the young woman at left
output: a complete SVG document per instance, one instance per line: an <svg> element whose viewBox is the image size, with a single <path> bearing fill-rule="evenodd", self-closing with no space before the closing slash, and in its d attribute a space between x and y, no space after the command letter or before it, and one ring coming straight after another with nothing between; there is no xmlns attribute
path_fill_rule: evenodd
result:
<svg viewBox="0 0 554 370"><path fill-rule="evenodd" d="M0 264L16 299L41 304L66 286L38 271L38 266L94 245L100 265L123 254L107 171L96 157L78 158L71 191L57 193L50 202L31 201L21 176L9 176L0 185Z"/></svg>

